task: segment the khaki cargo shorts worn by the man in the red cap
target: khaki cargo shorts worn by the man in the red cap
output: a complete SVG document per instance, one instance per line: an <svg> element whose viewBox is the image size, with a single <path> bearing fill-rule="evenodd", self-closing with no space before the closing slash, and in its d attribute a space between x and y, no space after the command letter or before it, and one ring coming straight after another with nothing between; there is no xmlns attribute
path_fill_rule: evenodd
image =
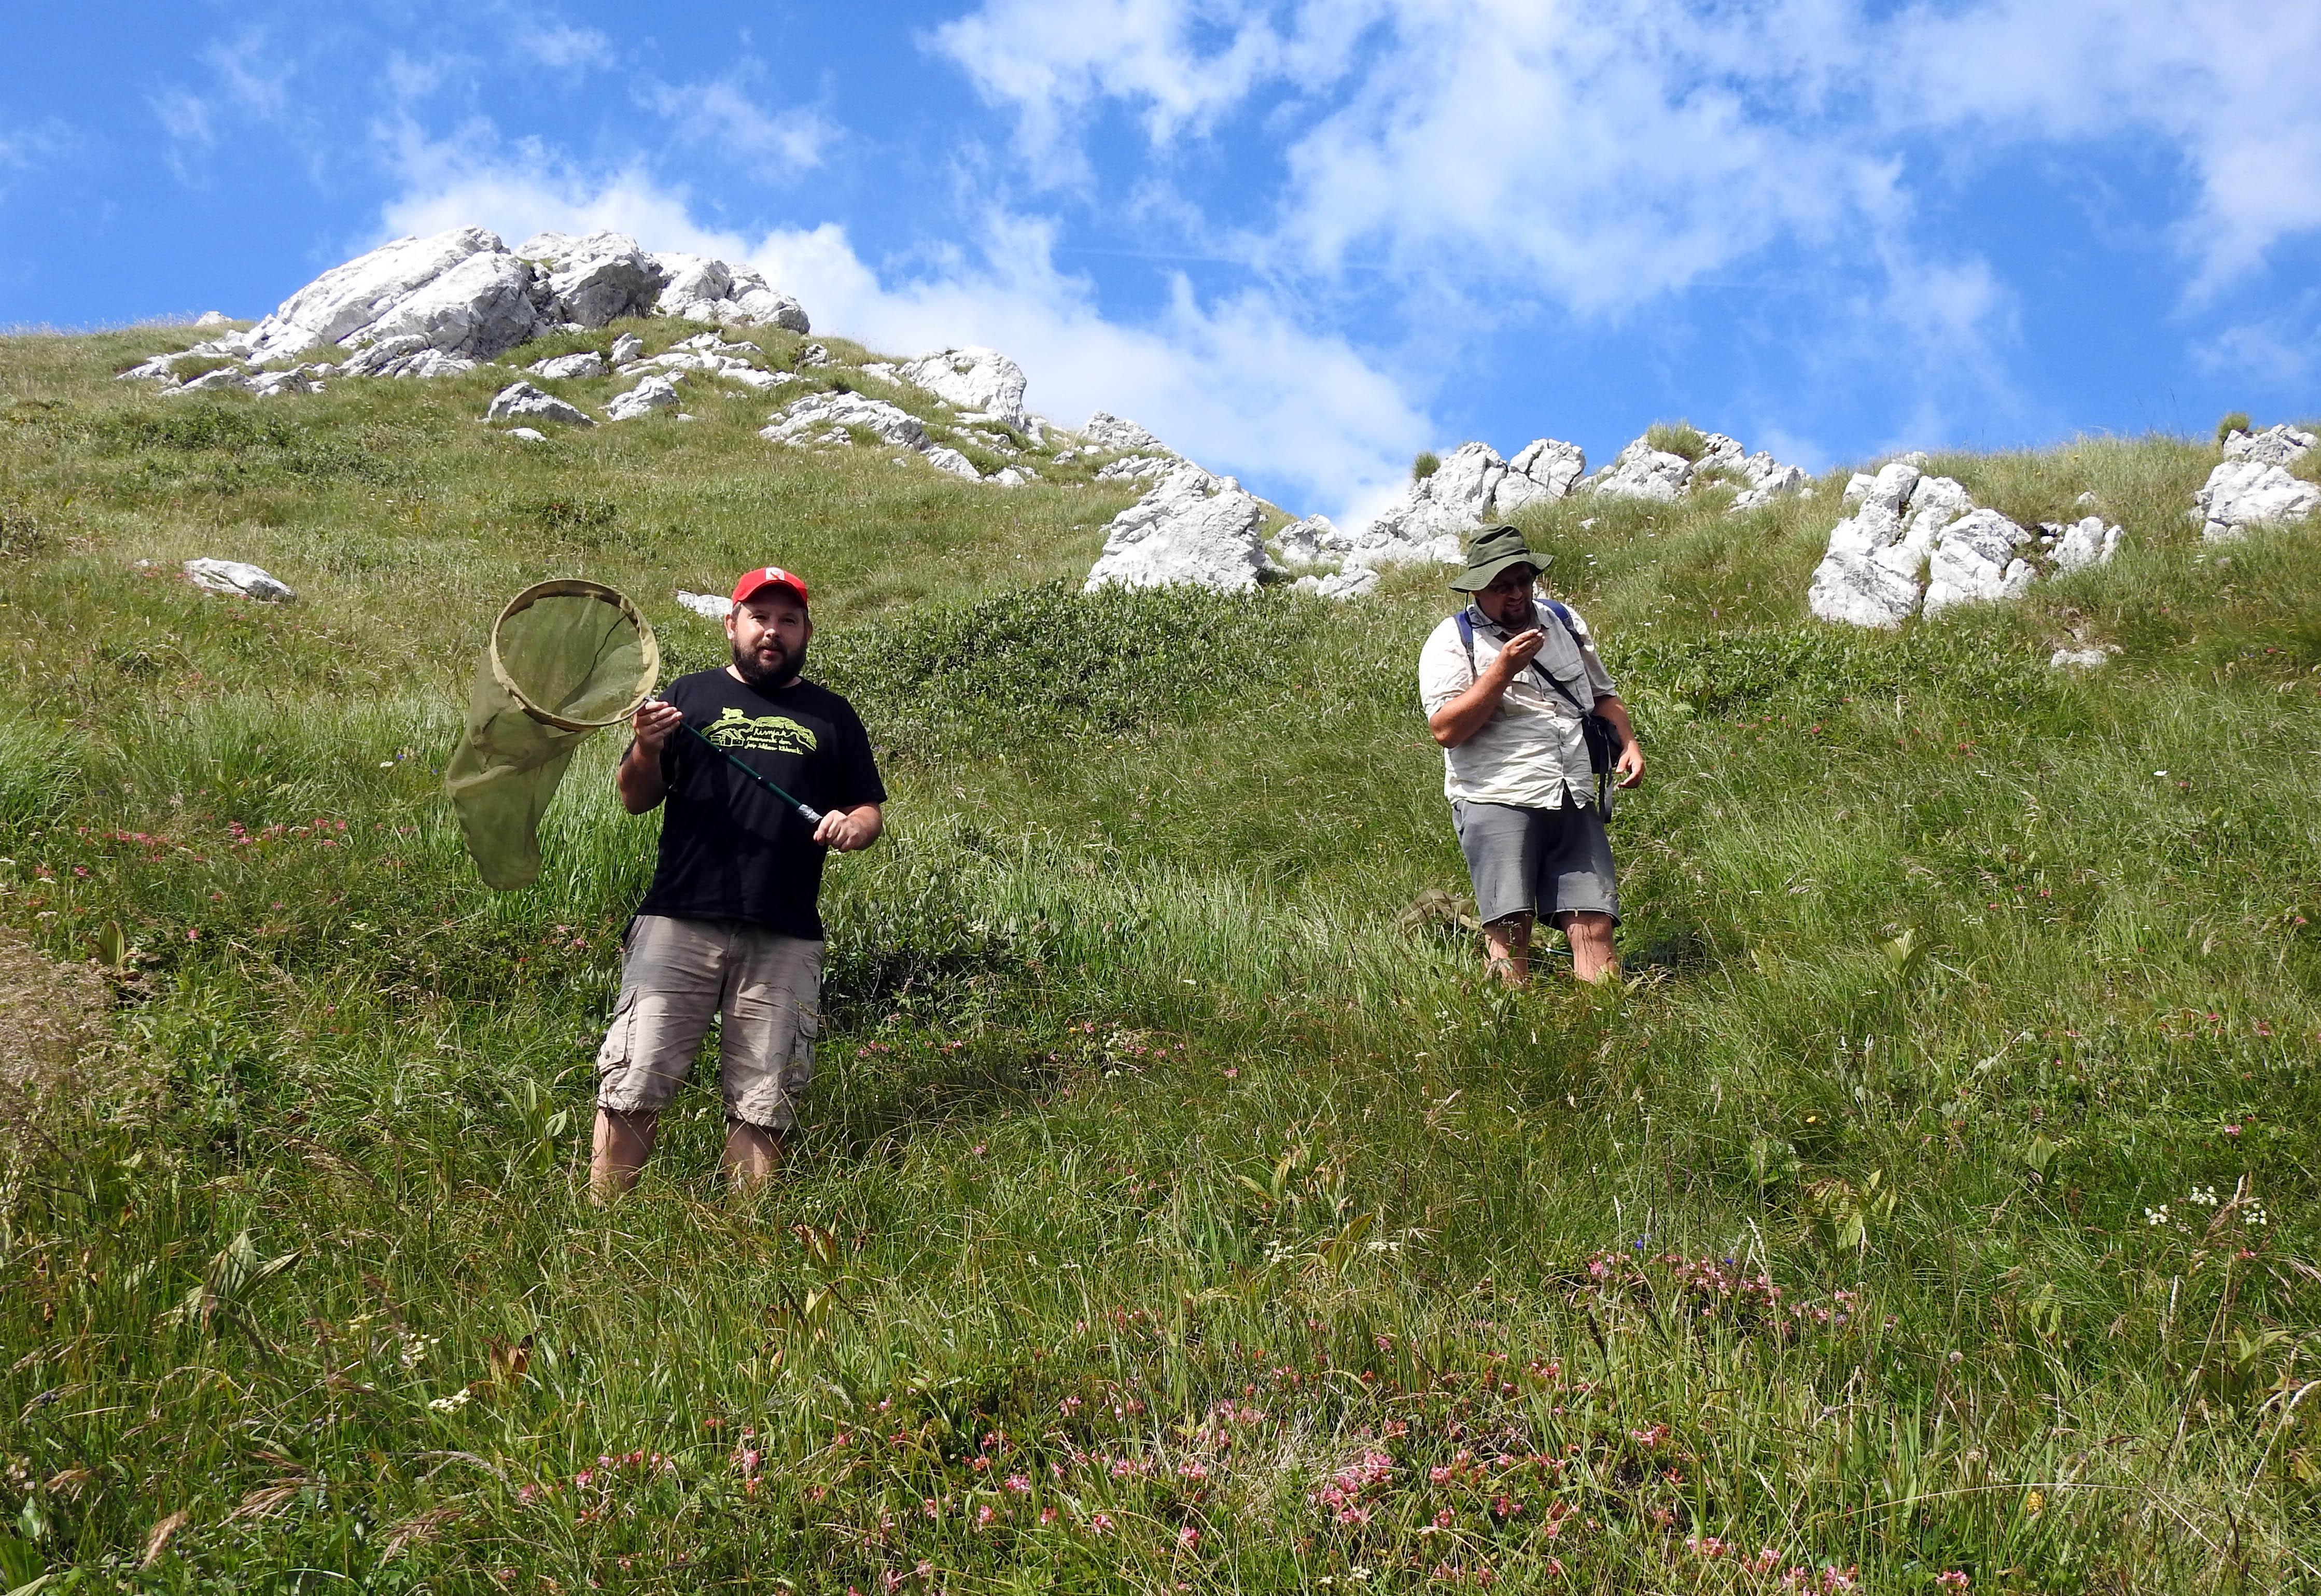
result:
<svg viewBox="0 0 2321 1596"><path fill-rule="evenodd" d="M726 1116L789 1130L815 1079L822 1030L822 944L733 921L638 914L620 970L613 1025L596 1049L596 1104L664 1109L717 1035Z"/></svg>

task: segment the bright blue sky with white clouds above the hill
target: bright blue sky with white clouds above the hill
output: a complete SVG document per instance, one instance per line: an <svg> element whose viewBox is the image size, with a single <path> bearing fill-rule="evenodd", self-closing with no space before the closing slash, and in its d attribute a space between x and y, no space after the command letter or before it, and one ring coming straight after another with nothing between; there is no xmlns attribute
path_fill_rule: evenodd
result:
<svg viewBox="0 0 2321 1596"><path fill-rule="evenodd" d="M2314 5L181 0L9 56L0 322L620 227L1332 515L1462 438L1820 469L2321 411Z"/></svg>

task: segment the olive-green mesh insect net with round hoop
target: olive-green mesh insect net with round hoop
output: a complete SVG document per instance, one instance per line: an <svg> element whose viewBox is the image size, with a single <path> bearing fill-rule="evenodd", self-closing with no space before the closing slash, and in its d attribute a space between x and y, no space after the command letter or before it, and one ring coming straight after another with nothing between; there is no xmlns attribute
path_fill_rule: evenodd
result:
<svg viewBox="0 0 2321 1596"><path fill-rule="evenodd" d="M443 768L467 851L487 886L541 875L541 817L592 733L627 721L652 694L661 645L603 582L557 578L508 601L476 661L467 731Z"/></svg>

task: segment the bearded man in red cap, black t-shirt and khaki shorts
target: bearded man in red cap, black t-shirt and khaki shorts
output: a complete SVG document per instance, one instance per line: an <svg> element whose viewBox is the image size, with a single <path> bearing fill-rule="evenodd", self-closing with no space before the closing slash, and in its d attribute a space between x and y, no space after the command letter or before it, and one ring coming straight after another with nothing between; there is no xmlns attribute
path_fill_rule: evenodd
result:
<svg viewBox="0 0 2321 1596"><path fill-rule="evenodd" d="M808 682L805 582L780 566L733 585L724 670L680 675L634 719L615 784L629 814L661 803L661 861L629 923L613 1025L596 1051L590 1185L636 1185L661 1109L710 1018L724 1093L724 1167L754 1185L815 1074L822 1028L822 861L877 842L887 789L854 708ZM692 726L717 752L678 728ZM822 812L808 824L726 759Z"/></svg>

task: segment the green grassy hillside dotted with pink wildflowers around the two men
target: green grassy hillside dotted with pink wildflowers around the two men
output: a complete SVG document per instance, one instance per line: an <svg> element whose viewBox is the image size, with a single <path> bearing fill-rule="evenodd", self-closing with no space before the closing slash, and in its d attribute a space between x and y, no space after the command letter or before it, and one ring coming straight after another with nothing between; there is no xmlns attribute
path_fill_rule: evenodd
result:
<svg viewBox="0 0 2321 1596"><path fill-rule="evenodd" d="M2128 536L1899 636L1803 615L1843 476L1539 513L1653 770L1632 981L1502 995L1411 912L1439 573L1084 601L1126 492L109 380L158 346L0 341L0 988L111 995L7 1104L0 1589L2316 1580L2321 543L2203 550L2205 443L1938 457ZM439 768L513 589L694 668L673 592L766 559L889 842L791 1171L720 1190L696 1086L601 1213L655 824L592 745L492 895Z"/></svg>

